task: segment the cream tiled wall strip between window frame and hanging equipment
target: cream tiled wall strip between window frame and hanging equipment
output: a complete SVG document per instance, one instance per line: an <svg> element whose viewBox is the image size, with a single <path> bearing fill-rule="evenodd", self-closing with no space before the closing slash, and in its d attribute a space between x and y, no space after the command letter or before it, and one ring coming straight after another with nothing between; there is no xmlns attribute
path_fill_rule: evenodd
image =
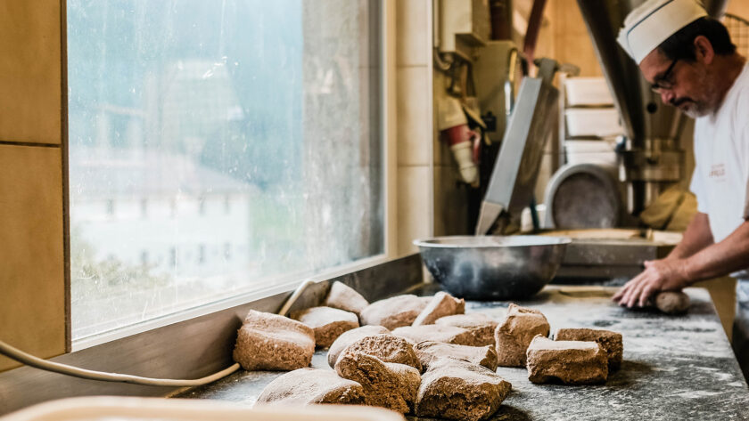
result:
<svg viewBox="0 0 749 421"><path fill-rule="evenodd" d="M397 2L398 251L412 242L467 229L465 188L449 148L434 129L433 103L444 94L432 73L432 2Z"/></svg>

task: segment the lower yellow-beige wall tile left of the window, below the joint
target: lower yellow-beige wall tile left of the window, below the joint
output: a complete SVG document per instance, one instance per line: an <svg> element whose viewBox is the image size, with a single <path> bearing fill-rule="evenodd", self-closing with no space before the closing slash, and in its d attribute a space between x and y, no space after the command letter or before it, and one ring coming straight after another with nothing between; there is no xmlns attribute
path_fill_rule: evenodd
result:
<svg viewBox="0 0 749 421"><path fill-rule="evenodd" d="M62 244L60 148L0 145L0 339L43 358L65 352Z"/></svg>

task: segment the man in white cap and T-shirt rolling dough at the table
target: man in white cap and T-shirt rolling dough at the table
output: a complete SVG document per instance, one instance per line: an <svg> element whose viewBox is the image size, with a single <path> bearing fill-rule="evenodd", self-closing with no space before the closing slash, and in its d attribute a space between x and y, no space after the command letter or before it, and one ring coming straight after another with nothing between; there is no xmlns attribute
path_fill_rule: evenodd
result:
<svg viewBox="0 0 749 421"><path fill-rule="evenodd" d="M695 118L697 214L667 257L645 263L613 300L643 306L663 290L731 274L734 352L749 375L749 67L728 30L695 0L648 0L618 37L664 103ZM749 376L747 376L749 377Z"/></svg>

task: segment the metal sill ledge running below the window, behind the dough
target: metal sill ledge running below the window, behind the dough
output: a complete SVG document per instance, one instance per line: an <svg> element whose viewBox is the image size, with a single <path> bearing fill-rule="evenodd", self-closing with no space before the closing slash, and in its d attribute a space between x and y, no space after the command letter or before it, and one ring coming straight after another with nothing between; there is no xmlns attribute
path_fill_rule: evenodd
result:
<svg viewBox="0 0 749 421"><path fill-rule="evenodd" d="M382 256L359 262L365 267L339 274L318 276L292 308L320 304L329 285L340 280L360 291L370 301L391 296L423 281L419 255L386 261ZM339 268L338 271L343 271ZM299 281L283 291L266 290L273 296L244 301L222 310L201 309L208 314L183 321L161 320L161 326L121 339L81 349L52 360L94 370L164 378L197 378L233 363L236 329L250 310L276 312ZM282 289L282 286L278 286ZM251 299L251 296L245 297ZM217 304L218 305L218 304ZM218 311L217 311L218 310ZM185 316L183 314L182 316ZM78 344L80 346L80 344ZM21 367L0 373L0 415L41 401L88 395L169 396L180 389L82 380Z"/></svg>

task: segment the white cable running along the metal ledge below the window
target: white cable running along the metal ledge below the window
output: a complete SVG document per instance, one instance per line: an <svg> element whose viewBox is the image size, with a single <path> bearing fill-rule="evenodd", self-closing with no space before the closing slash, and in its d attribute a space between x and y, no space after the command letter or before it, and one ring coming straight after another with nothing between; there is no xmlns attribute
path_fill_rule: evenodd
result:
<svg viewBox="0 0 749 421"><path fill-rule="evenodd" d="M289 296L289 298L284 303L284 306L281 307L281 311L279 311L278 314L281 314L282 316L285 315L285 313L288 312L289 309L292 307L292 304L296 302L296 300L301 296L301 293L303 293L304 290L312 282L313 281L311 279L307 279L304 282L302 282L300 286L294 290L294 292L292 293L292 296ZM78 367L70 366L68 364L62 364L59 362L43 360L29 353L23 352L20 349L11 346L10 344L6 344L3 341L0 341L0 354L3 354L6 357L9 357L13 360L21 362L22 364L26 364L29 367L40 368L43 370L52 371L54 373L59 373L59 374L63 374L66 376L86 378L89 380L100 380L103 382L121 382L121 383L130 383L133 385L147 385L147 386L193 387L193 386L207 385L211 382L215 382L218 379L224 378L234 373L236 370L240 368L239 364L235 363L231 367L225 368L219 371L218 373L214 373L210 376L196 378L194 380L180 380L180 379L171 379L171 378L152 378L152 377L132 376L128 374L107 373L104 371L95 371L95 370L89 370L86 368L78 368Z"/></svg>

